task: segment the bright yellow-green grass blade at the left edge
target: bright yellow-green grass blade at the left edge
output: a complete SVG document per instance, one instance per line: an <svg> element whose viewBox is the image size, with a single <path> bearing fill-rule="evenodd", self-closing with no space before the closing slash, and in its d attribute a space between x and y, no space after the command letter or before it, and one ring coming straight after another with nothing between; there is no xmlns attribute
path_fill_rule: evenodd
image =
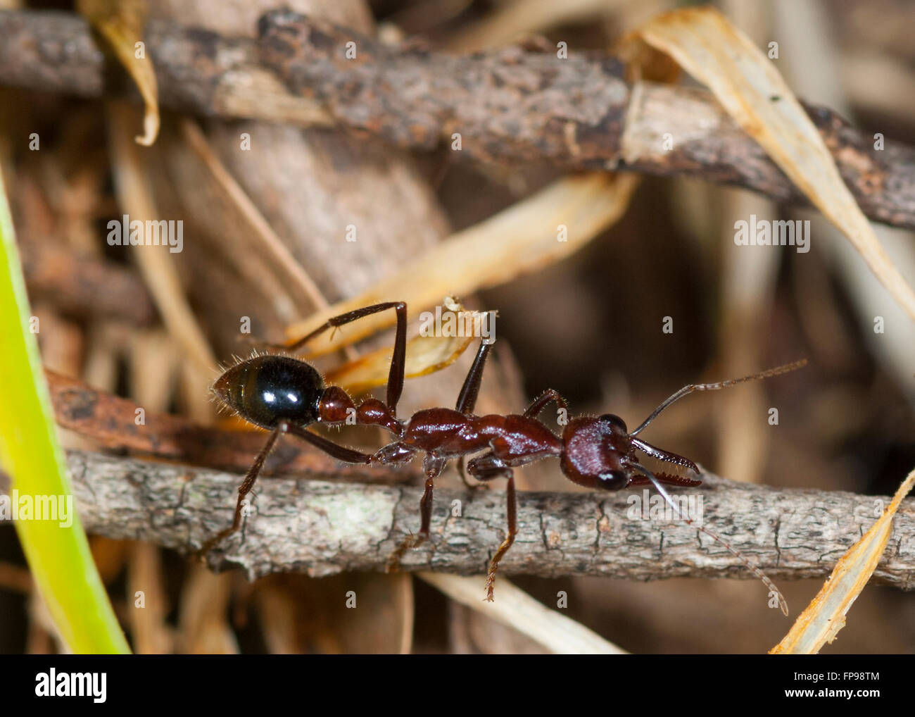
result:
<svg viewBox="0 0 915 717"><path fill-rule="evenodd" d="M40 331L40 327L39 327ZM72 495L48 386L29 331L25 280L0 177L0 466L19 496ZM10 492L12 494L12 490ZM16 520L32 577L54 624L75 653L130 652L78 517Z"/></svg>

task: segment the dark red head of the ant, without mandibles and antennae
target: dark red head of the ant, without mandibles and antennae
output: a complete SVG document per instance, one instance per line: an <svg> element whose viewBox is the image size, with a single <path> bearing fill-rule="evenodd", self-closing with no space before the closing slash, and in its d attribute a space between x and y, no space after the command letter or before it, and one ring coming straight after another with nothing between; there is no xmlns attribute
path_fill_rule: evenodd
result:
<svg viewBox="0 0 915 717"><path fill-rule="evenodd" d="M573 418L563 431L565 477L592 490L619 491L631 479L633 448L619 416Z"/></svg>

